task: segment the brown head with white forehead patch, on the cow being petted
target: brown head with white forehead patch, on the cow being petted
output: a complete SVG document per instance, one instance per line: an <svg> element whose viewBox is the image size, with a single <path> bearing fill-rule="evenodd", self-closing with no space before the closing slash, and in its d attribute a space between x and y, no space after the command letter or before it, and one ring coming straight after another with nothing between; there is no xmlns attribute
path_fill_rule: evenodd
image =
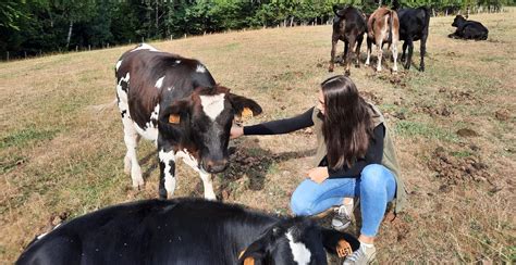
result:
<svg viewBox="0 0 516 265"><path fill-rule="evenodd" d="M261 106L221 86L196 88L187 98L174 101L159 117L162 140L187 149L208 173L228 166L228 143L235 116L258 115Z"/></svg>

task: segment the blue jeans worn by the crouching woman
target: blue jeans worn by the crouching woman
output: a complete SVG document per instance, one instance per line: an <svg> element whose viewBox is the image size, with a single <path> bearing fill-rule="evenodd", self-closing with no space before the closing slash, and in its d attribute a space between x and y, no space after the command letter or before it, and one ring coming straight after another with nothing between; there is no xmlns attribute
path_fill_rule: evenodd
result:
<svg viewBox="0 0 516 265"><path fill-rule="evenodd" d="M396 180L383 165L371 164L359 178L332 178L322 184L305 179L291 198L295 215L314 215L342 204L343 198L359 197L363 225L360 232L374 237L385 214L388 202L394 199Z"/></svg>

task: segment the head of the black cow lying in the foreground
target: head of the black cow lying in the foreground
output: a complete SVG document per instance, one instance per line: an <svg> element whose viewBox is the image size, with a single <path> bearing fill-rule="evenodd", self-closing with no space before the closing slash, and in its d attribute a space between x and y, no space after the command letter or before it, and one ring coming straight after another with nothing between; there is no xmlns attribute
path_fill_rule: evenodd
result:
<svg viewBox="0 0 516 265"><path fill-rule="evenodd" d="M327 264L327 253L343 257L359 248L358 240L344 232L324 229L314 220L292 218L269 228L241 253L241 265Z"/></svg>

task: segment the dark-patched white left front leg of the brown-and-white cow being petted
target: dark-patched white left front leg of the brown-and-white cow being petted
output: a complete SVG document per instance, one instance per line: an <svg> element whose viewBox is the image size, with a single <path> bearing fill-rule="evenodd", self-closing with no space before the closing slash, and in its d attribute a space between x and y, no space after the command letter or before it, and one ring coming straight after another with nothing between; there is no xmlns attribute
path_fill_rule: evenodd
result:
<svg viewBox="0 0 516 265"><path fill-rule="evenodd" d="M159 142L159 141L158 141ZM159 144L160 146L160 144ZM159 198L172 198L175 191L175 153L171 148L158 147L159 157Z"/></svg>

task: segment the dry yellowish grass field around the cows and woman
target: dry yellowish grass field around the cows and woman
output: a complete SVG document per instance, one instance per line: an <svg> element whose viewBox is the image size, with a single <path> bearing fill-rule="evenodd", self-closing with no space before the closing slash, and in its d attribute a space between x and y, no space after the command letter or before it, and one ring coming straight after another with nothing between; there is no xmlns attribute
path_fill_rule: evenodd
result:
<svg viewBox="0 0 516 265"><path fill-rule="evenodd" d="M453 17L431 20L425 73L352 68L359 90L394 131L409 191L407 211L382 224L382 264L516 260L516 10L470 18L490 29L487 41L449 39ZM254 124L316 103L319 84L330 76L330 36L331 26L315 26L151 45L201 60L219 83L257 100L265 112L247 122ZM140 144L147 185L133 191L123 173L120 114L91 108L114 99L114 63L130 48L0 63L0 264L11 264L56 215L157 197L152 144ZM216 177L219 198L290 214L290 195L314 154L311 131L231 144L237 157ZM176 195L201 197L201 187L180 163Z"/></svg>

